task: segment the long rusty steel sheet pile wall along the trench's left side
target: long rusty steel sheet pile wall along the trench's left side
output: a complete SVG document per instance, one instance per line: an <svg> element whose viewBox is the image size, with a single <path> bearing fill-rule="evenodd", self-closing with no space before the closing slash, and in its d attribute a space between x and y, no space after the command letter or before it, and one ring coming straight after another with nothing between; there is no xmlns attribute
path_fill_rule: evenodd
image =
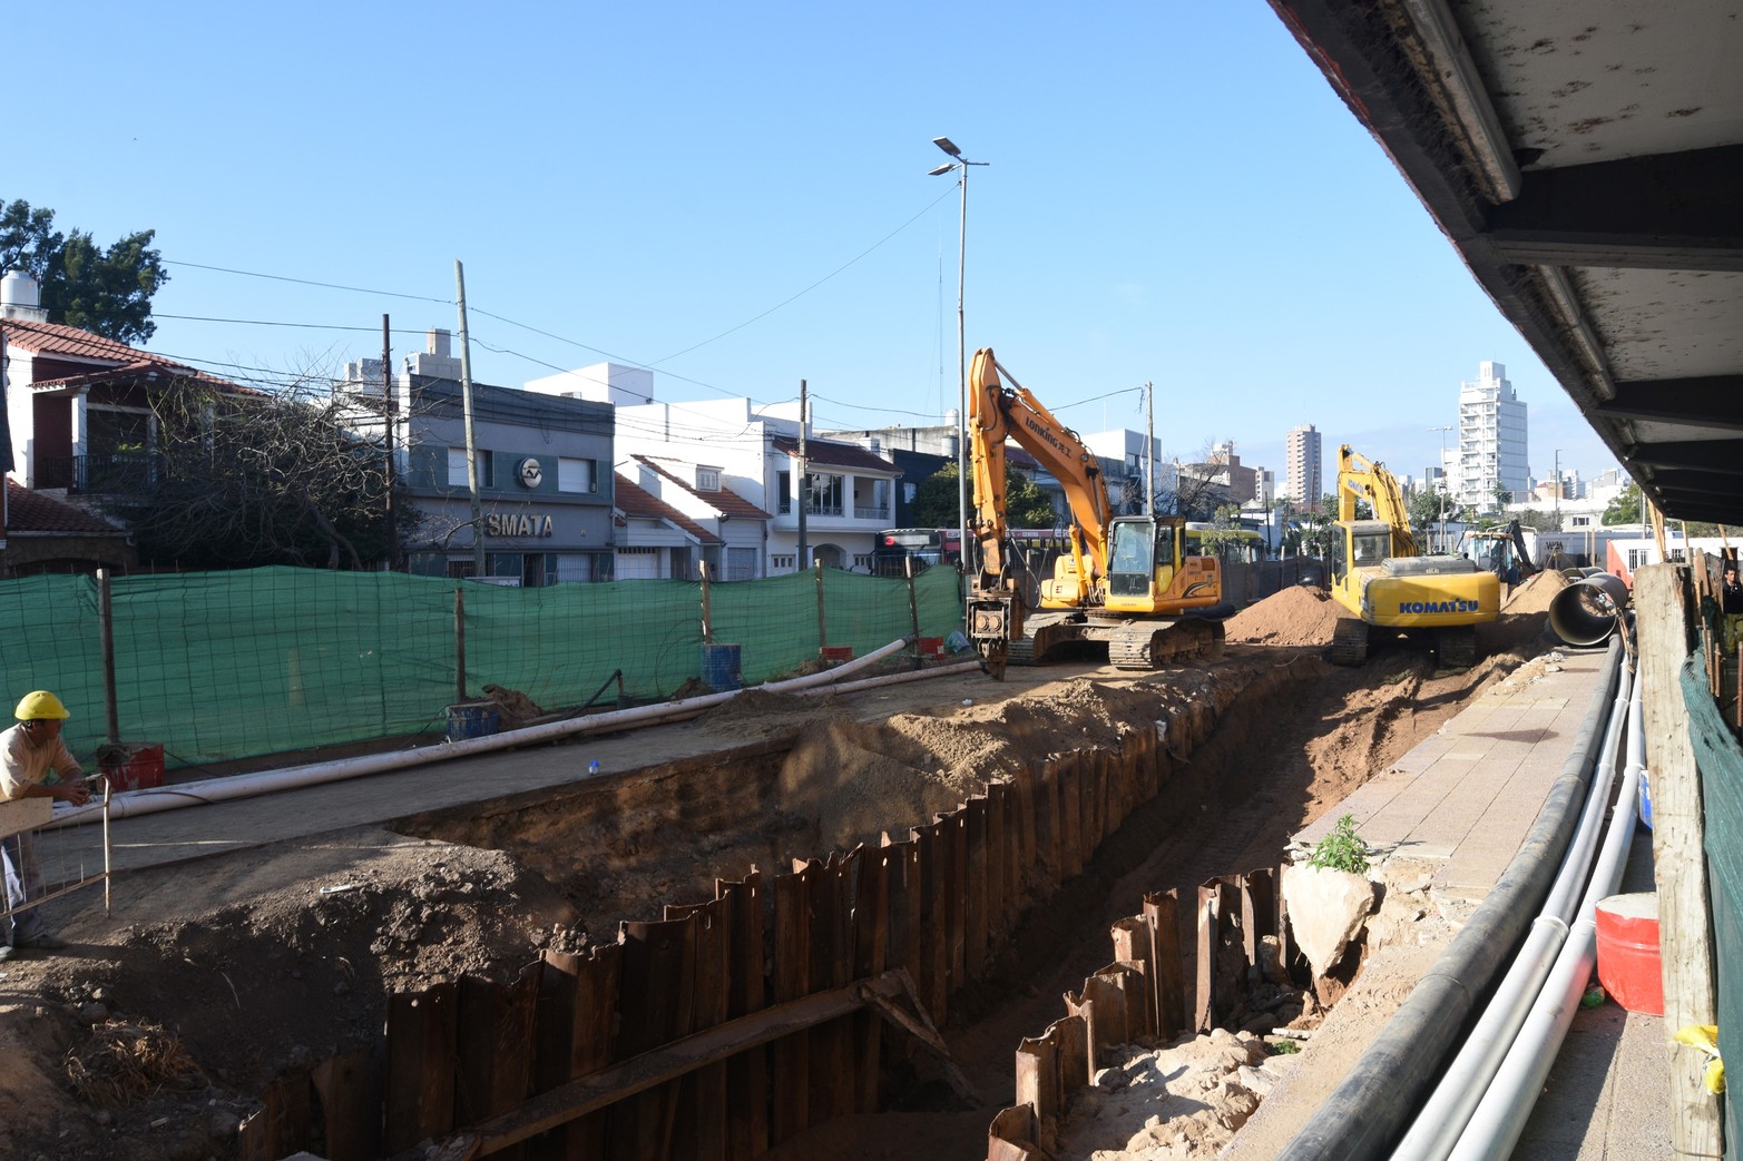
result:
<svg viewBox="0 0 1743 1161"><path fill-rule="evenodd" d="M512 985L392 995L382 1060L363 1049L275 1086L242 1156L349 1161L450 1137L444 1158L739 1159L875 1112L884 1065L945 1055L952 997L1157 795L1211 715L1194 703L1117 751L1048 755L899 840L720 880L715 900L626 922L586 955L546 952ZM1152 926L1173 906L1154 903ZM1133 955L1177 959L1149 940ZM1145 1022L1150 980L1110 985L1143 990L1126 1009Z"/></svg>

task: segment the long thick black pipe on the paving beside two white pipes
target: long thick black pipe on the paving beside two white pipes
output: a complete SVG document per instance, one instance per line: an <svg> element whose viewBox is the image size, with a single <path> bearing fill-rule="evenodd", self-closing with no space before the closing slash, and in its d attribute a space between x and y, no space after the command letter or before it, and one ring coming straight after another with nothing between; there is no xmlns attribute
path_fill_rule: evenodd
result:
<svg viewBox="0 0 1743 1161"><path fill-rule="evenodd" d="M1621 675L1623 642L1611 642L1604 680L1537 821L1483 905L1454 938L1410 997L1386 1022L1349 1076L1279 1154L1283 1161L1368 1161L1386 1158L1434 1088L1478 1001L1513 957L1550 894L1556 866L1579 821Z"/></svg>

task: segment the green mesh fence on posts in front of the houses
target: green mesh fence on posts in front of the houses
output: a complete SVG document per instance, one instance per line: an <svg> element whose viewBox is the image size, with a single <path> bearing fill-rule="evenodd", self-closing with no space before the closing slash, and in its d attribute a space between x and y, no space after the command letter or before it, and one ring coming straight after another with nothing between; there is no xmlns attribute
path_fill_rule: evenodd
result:
<svg viewBox="0 0 1743 1161"><path fill-rule="evenodd" d="M669 697L702 671L702 587L617 580L511 589L460 584L465 692L519 690L546 710L579 706L614 673L627 697ZM439 730L458 697L457 582L302 568L112 580L119 739L162 743L200 765L309 746ZM922 636L960 624L957 575L913 582ZM819 645L854 655L913 633L908 582L824 570L709 587L715 643L739 647L746 685L791 673ZM89 765L105 741L98 582L0 582L7 690L59 694L66 743ZM7 703L10 704L10 703Z"/></svg>

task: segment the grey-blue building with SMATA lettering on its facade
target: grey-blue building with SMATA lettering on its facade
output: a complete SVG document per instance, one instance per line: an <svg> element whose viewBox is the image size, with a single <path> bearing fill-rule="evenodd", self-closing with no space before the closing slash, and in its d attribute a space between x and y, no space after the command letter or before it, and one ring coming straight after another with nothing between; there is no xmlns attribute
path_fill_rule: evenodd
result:
<svg viewBox="0 0 1743 1161"><path fill-rule="evenodd" d="M378 438L380 361L347 364L336 390L350 396L352 425ZM443 329L392 378L392 399L396 471L425 518L403 546L408 572L472 577L483 556L481 579L497 584L612 579L610 404L472 384L469 457L460 359Z"/></svg>

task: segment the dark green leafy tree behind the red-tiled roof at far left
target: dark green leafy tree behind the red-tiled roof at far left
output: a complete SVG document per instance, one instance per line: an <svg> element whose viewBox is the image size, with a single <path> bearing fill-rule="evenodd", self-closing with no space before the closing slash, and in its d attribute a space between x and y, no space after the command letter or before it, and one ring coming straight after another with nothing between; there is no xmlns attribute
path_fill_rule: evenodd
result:
<svg viewBox="0 0 1743 1161"><path fill-rule="evenodd" d="M122 343L145 342L157 331L152 296L169 272L152 249L155 235L141 230L101 248L91 234L56 230L52 209L0 200L0 268L37 279L51 322Z"/></svg>

